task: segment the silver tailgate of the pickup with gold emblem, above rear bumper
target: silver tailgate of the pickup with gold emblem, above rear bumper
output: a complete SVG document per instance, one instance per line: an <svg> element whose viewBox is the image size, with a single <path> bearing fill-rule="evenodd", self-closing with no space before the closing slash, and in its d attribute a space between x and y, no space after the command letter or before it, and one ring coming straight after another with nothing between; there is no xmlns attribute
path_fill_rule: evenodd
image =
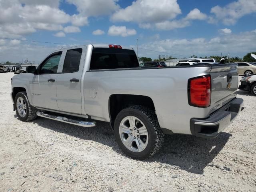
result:
<svg viewBox="0 0 256 192"><path fill-rule="evenodd" d="M238 87L237 64L212 65L212 96L210 113L236 98Z"/></svg>

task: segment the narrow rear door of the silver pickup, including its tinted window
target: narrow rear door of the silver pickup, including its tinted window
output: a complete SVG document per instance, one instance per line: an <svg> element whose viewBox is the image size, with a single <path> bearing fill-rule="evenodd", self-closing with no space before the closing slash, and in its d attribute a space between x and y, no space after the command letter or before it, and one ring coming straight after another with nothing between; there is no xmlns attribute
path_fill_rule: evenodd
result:
<svg viewBox="0 0 256 192"><path fill-rule="evenodd" d="M57 79L57 103L60 111L82 114L81 77L86 46L66 50L62 72Z"/></svg>

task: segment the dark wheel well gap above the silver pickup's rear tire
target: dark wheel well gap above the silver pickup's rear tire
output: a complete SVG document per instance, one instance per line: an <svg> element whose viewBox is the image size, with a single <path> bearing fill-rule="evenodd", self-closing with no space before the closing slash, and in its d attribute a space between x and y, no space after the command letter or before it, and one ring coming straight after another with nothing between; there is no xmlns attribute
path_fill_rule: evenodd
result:
<svg viewBox="0 0 256 192"><path fill-rule="evenodd" d="M144 95L112 94L108 99L108 112L111 128L114 129L114 121L117 114L124 108L143 105L156 111L152 98Z"/></svg>

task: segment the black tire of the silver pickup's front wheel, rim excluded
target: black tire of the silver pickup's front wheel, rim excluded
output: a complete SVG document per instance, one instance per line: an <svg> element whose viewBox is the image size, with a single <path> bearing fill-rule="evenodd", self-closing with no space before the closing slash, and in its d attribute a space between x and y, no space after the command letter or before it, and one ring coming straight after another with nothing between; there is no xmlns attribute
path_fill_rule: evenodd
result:
<svg viewBox="0 0 256 192"><path fill-rule="evenodd" d="M17 100L19 97L22 97L26 104L26 116L24 116L24 117L20 116L20 114L17 111ZM15 99L14 99L14 104L15 104L16 114L17 114L19 120L31 121L31 120L34 120L35 118L37 118L36 108L30 105L26 91L18 92L16 94Z"/></svg>

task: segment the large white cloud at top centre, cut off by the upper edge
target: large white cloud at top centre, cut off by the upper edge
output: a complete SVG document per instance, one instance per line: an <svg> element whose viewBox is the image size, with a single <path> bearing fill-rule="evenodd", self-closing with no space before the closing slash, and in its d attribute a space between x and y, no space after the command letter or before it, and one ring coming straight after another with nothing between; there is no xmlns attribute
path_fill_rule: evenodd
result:
<svg viewBox="0 0 256 192"><path fill-rule="evenodd" d="M181 13L176 0L137 0L132 5L116 11L112 21L125 21L136 23L161 22L175 18Z"/></svg>

